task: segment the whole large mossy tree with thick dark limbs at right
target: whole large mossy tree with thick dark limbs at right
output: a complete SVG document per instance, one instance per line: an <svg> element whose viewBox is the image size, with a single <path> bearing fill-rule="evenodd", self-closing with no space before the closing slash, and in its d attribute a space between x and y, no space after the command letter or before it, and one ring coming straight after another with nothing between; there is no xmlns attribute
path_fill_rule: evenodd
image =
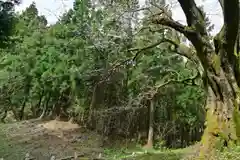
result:
<svg viewBox="0 0 240 160"><path fill-rule="evenodd" d="M206 17L194 0L178 0L187 19L187 26L174 21L171 17L153 16L152 22L175 29L191 41L195 51L182 50L182 46L173 40L177 53L200 64L197 68L208 95L206 110L206 128L202 136L200 157L211 159L218 147L229 146L238 141L240 106L240 68L235 53L239 28L239 1L219 0L224 24L215 36L214 44L208 33ZM164 14L164 9L161 11ZM237 44L237 45L236 45ZM187 48L187 46L185 46ZM237 49L238 50L238 49ZM237 53L239 54L239 53ZM201 66L201 67L199 67Z"/></svg>

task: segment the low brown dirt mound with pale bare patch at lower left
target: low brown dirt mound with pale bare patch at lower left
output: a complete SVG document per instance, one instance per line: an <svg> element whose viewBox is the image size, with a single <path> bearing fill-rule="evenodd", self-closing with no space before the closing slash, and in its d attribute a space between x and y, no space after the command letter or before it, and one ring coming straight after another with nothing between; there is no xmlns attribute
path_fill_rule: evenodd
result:
<svg viewBox="0 0 240 160"><path fill-rule="evenodd" d="M8 142L8 150L20 146L21 149L24 148L23 152L37 160L49 160L53 155L56 158L74 154L98 157L103 153L100 135L71 122L29 120L5 126L7 127L1 128L1 133L5 134L2 138L5 137ZM4 156L4 160L11 160L9 157L12 155L0 155L0 158L1 156Z"/></svg>

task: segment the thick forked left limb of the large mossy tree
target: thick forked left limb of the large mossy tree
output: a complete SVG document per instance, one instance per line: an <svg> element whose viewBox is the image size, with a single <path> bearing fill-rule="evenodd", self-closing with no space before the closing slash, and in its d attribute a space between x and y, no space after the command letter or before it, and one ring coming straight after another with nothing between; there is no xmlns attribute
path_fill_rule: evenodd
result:
<svg viewBox="0 0 240 160"><path fill-rule="evenodd" d="M204 51L204 45L208 37L206 24L204 21L204 15L202 11L196 6L194 0L179 0L181 7L186 15L188 26L184 26L181 23L174 21L171 17L164 16L160 12L158 15L153 15L152 22L154 24L161 24L170 27L182 34L184 34L194 45L197 50L198 57L201 62L207 66L207 59L203 56L206 53ZM202 37L205 37L204 39Z"/></svg>

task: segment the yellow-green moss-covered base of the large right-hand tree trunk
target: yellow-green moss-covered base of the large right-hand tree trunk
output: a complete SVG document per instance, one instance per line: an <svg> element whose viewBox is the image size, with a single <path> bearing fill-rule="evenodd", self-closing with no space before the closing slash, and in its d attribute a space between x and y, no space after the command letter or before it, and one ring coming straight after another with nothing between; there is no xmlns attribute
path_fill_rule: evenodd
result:
<svg viewBox="0 0 240 160"><path fill-rule="evenodd" d="M236 103L233 103L236 104ZM221 101L211 101L207 104L206 128L201 140L199 159L216 159L216 151L232 146L240 137L239 107L226 106ZM227 108L233 112L226 114Z"/></svg>

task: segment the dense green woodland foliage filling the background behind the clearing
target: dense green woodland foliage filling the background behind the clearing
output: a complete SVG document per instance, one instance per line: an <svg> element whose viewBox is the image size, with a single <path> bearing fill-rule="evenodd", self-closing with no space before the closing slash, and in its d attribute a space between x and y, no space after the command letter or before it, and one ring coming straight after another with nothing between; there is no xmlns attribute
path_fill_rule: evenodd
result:
<svg viewBox="0 0 240 160"><path fill-rule="evenodd" d="M142 29L151 25L140 21L138 13L126 12L138 8L137 1L76 0L73 9L51 26L34 3L15 15L13 46L1 50L1 111L12 111L18 120L65 116L83 124L101 122L101 133L124 131L129 138L146 131L147 93L197 71L168 43L143 50L133 60L136 50L163 37L182 39L171 30ZM199 137L203 127L200 86L171 83L157 89L154 101L156 137L172 147L197 140L186 134ZM100 116L92 116L92 110L100 110ZM123 120L125 113L131 123Z"/></svg>

